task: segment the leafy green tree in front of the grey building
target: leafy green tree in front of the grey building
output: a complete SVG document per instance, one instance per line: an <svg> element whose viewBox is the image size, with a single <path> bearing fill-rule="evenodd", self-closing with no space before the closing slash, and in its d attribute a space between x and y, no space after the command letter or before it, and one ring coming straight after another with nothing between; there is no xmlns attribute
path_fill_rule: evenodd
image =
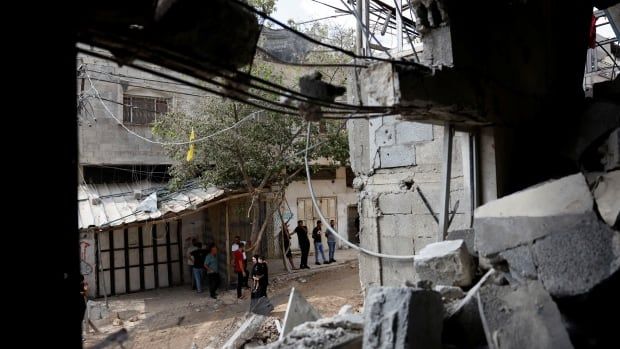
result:
<svg viewBox="0 0 620 349"><path fill-rule="evenodd" d="M255 61L254 75L272 82L282 82L283 71L274 65ZM252 94L276 100L276 96L250 89ZM171 186L181 186L189 179L199 178L204 185L241 189L250 194L252 205L251 241L258 246L269 219L259 227L258 202L271 189L274 205L279 207L288 184L304 169L305 121L300 117L281 115L234 102L219 96L206 97L196 115L190 117L173 112L161 118L154 126L156 135L182 139L193 129L196 137L214 134L252 115L239 126L207 141L195 143L195 158L185 161L187 146L167 146L175 164L170 170ZM312 144L324 142L313 149L311 159L329 158L332 164L348 163L348 140L342 122L313 125Z"/></svg>

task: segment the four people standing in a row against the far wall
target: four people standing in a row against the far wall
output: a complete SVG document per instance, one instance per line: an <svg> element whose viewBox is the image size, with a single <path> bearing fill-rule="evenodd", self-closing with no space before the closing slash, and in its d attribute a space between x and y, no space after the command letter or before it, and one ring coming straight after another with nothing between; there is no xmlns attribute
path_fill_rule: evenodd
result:
<svg viewBox="0 0 620 349"><path fill-rule="evenodd" d="M321 255L321 259L324 264L336 262L336 259L334 259L334 255L336 253L336 236L331 231L329 231L329 229L323 232L322 224L323 223L321 221L317 221L316 226L314 227L314 229L312 229L312 240L314 242L314 258L316 265L321 265L321 261L319 261L319 254ZM336 229L333 219L329 221L329 225L331 225L332 229ZM301 249L301 262L299 263L299 268L310 269L310 267L308 266L310 240L308 239L308 227L304 225L304 221L297 221L297 227L295 227L295 230L293 230L292 233L288 232L288 228L286 227L286 225L284 226L283 240L286 257L291 263L292 268L296 269L295 265L293 264L293 254L290 250L291 235L295 234L297 234L297 238L299 240L299 248ZM329 259L325 258L325 253L323 252L323 234L325 234L325 237L327 238L327 246L329 247Z"/></svg>

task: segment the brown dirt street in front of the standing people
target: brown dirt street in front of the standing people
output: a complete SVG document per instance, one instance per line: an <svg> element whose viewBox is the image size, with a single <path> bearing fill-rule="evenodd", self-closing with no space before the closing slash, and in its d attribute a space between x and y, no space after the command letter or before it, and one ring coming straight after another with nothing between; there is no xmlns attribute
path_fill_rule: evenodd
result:
<svg viewBox="0 0 620 349"><path fill-rule="evenodd" d="M363 297L357 258L292 274L270 277L268 296L275 309L270 314L282 321L291 287L299 290L323 316L332 316L345 304L360 311ZM271 274L271 273L270 273ZM247 292L247 291L246 291ZM249 297L236 299L236 291L222 291L217 300L189 287L142 292L110 300L113 323L95 323L102 333L85 335L91 348L121 328L129 331L125 348L220 348L241 325ZM117 315L118 314L118 315ZM114 346L111 346L114 347Z"/></svg>

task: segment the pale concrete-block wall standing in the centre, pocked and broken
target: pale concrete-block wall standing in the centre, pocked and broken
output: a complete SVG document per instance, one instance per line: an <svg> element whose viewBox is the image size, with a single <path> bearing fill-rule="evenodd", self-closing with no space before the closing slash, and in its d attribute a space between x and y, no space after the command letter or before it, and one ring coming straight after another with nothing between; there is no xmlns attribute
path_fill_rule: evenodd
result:
<svg viewBox="0 0 620 349"><path fill-rule="evenodd" d="M443 127L386 116L349 121L348 129L354 186L359 191L361 246L411 255L437 241L439 226L433 214L439 216L441 202ZM459 204L449 230L471 224L468 144L467 135L454 137L451 210ZM412 261L360 255L363 288L401 285L414 276Z"/></svg>

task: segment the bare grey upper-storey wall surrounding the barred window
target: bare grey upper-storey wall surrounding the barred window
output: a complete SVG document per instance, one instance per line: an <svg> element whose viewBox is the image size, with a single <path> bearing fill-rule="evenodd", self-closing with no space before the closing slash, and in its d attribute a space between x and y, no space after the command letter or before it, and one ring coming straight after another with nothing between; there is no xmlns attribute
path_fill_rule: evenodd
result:
<svg viewBox="0 0 620 349"><path fill-rule="evenodd" d="M90 56L80 55L78 65L84 64L93 85L99 91L110 112L119 120L123 120L123 95L162 97L171 100L169 110L192 113L199 103L198 97L181 93L204 95L195 89L180 86L174 83L158 82L162 79L141 71L118 67L116 63L103 61ZM126 78L130 76L133 78ZM147 79L147 80L137 80ZM157 80L157 81L150 81ZM123 86L122 83L126 85ZM82 91L82 79L78 79L78 93ZM95 93L90 90L88 79L84 79L83 90L91 96ZM166 156L162 146L141 140L129 134L103 107L101 101L95 97L88 99L88 114L80 115L79 134L79 162L81 165L157 165L171 164L172 160ZM91 109L92 108L92 109ZM137 134L152 139L149 125L126 125Z"/></svg>

